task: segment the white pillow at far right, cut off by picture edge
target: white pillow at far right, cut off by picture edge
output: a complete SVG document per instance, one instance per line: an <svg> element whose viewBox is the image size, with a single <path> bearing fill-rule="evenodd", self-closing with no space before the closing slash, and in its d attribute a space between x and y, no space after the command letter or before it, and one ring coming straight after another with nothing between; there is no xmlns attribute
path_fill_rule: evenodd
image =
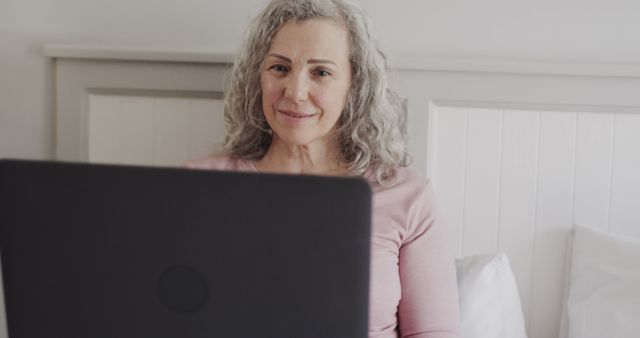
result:
<svg viewBox="0 0 640 338"><path fill-rule="evenodd" d="M640 241L574 226L561 338L640 337Z"/></svg>

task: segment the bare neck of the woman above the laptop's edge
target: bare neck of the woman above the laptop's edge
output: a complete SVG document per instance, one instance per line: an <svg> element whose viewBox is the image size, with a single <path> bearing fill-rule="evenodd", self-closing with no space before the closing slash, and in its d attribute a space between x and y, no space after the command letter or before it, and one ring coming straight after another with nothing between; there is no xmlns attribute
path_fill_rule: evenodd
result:
<svg viewBox="0 0 640 338"><path fill-rule="evenodd" d="M340 150L327 143L288 145L274 137L265 156L255 163L258 171L343 176L347 170L340 164Z"/></svg>

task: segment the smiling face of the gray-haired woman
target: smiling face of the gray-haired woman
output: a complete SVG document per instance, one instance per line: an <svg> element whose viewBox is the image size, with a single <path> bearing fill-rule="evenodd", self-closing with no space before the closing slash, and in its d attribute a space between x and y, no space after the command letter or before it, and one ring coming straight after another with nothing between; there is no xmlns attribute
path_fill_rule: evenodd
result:
<svg viewBox="0 0 640 338"><path fill-rule="evenodd" d="M260 83L274 138L292 146L329 144L351 84L347 31L326 19L284 24Z"/></svg>

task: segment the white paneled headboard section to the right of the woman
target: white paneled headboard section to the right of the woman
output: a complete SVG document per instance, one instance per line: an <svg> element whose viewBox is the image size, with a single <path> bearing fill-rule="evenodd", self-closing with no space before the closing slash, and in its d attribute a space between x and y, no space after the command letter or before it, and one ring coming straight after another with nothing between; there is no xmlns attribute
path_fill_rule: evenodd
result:
<svg viewBox="0 0 640 338"><path fill-rule="evenodd" d="M638 69L400 61L454 252L506 252L529 337L558 337L571 225L640 238Z"/></svg>

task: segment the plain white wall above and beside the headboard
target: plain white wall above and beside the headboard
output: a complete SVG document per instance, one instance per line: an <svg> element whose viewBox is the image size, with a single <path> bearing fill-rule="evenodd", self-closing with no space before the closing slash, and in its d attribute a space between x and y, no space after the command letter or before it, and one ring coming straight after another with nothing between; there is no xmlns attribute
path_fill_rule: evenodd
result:
<svg viewBox="0 0 640 338"><path fill-rule="evenodd" d="M0 0L0 157L53 156L44 44L233 51L266 0ZM358 0L393 56L640 62L634 0Z"/></svg>

